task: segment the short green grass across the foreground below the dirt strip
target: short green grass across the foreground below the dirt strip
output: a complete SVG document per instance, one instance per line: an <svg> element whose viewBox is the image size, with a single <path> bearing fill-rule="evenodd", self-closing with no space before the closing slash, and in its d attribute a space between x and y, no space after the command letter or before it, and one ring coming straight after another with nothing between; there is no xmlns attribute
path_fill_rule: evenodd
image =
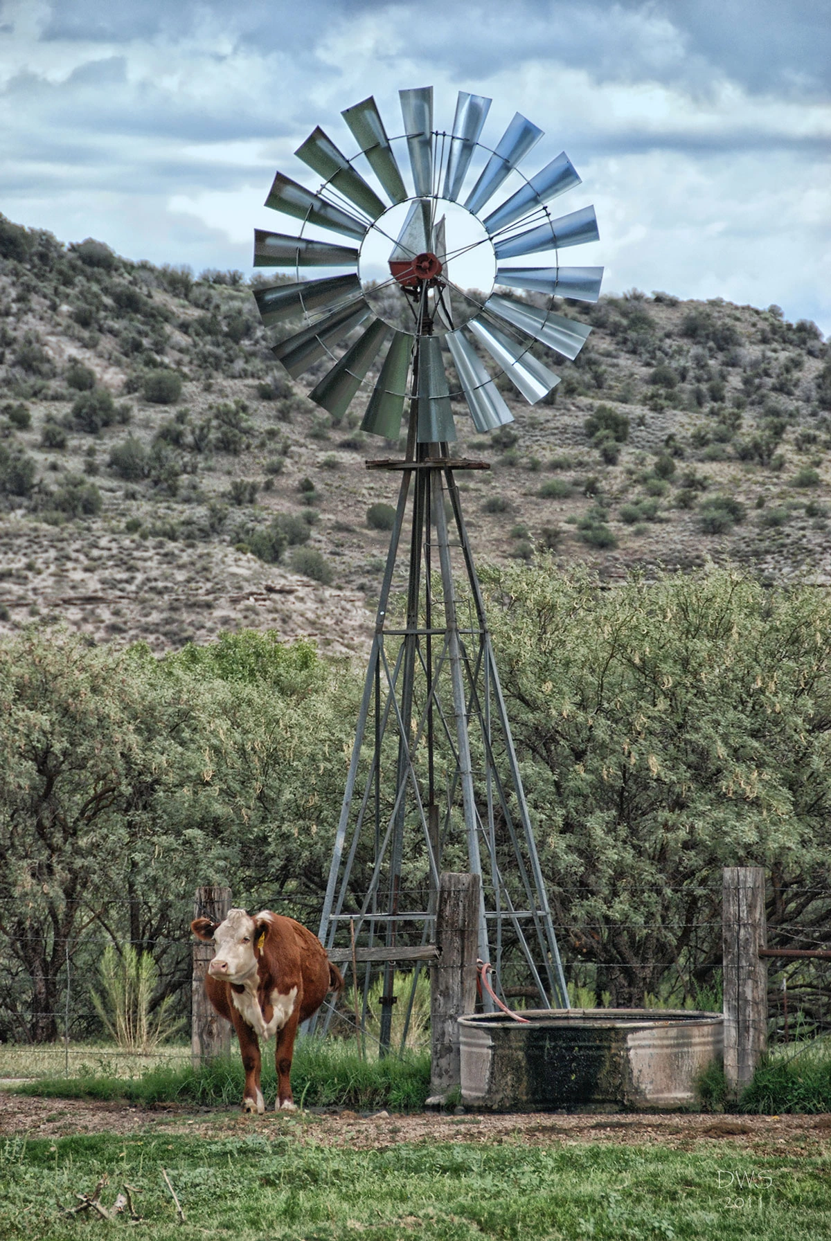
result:
<svg viewBox="0 0 831 1241"><path fill-rule="evenodd" d="M61 1214L58 1203L75 1204L77 1193L91 1193L107 1175L104 1206L124 1181L139 1190L144 1222L129 1232L140 1241L827 1237L827 1162L814 1155L513 1143L354 1150L317 1145L313 1133L313 1123L286 1119L222 1139L10 1139L0 1147L0 1236L67 1241L125 1230L123 1217L107 1225ZM752 1178L752 1191L727 1184L729 1173Z"/></svg>

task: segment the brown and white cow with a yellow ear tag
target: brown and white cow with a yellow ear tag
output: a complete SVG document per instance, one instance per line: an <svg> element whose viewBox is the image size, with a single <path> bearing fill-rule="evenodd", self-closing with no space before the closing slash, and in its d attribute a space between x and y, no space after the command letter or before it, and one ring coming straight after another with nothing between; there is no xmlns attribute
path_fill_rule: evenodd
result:
<svg viewBox="0 0 831 1241"><path fill-rule="evenodd" d="M196 918L190 927L200 939L216 944L205 990L220 1016L234 1023L240 1040L243 1108L266 1111L260 1090L260 1039L277 1035L276 1108L293 1112L289 1075L297 1026L317 1013L327 992L343 987L343 978L316 934L271 910L253 916L230 910L219 926L210 918Z"/></svg>

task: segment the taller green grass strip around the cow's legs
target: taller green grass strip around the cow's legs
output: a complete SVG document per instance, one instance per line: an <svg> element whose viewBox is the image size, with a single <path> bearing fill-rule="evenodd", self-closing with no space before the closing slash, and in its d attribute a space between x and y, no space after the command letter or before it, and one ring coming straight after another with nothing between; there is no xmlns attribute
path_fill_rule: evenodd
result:
<svg viewBox="0 0 831 1241"><path fill-rule="evenodd" d="M183 1102L205 1107L237 1104L245 1076L238 1055L202 1069L159 1065L140 1077L83 1073L78 1077L41 1077L19 1087L19 1093L50 1098L123 1098L133 1103ZM386 1107L417 1111L430 1086L430 1054L402 1060L361 1060L354 1044L301 1039L292 1064L292 1091L299 1104L338 1104L358 1109ZM273 1059L263 1056L262 1092L273 1106L277 1092Z"/></svg>

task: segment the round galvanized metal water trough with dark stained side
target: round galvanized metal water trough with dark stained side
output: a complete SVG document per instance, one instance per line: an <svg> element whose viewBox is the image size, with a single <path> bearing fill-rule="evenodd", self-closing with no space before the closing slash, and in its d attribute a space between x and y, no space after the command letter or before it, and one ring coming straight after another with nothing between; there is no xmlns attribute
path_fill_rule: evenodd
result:
<svg viewBox="0 0 831 1241"><path fill-rule="evenodd" d="M687 1009L538 1009L458 1019L462 1102L494 1111L689 1106L722 1059L722 1014Z"/></svg>

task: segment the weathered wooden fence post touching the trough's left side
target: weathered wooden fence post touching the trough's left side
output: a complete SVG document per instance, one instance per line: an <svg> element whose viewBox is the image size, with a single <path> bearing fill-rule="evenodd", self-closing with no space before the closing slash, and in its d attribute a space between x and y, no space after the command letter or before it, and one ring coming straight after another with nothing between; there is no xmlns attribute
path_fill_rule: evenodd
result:
<svg viewBox="0 0 831 1241"><path fill-rule="evenodd" d="M458 1023L476 1006L476 956L479 925L479 876L446 871L438 881L436 947L430 967L430 1098L443 1103L461 1085Z"/></svg>

